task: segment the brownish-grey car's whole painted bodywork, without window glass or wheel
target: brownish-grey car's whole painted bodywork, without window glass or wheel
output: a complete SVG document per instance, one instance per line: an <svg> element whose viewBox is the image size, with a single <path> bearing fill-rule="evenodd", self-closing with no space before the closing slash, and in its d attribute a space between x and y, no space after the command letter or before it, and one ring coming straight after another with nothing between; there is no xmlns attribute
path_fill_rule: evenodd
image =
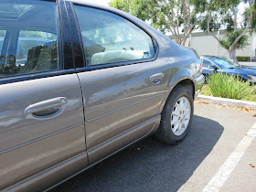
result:
<svg viewBox="0 0 256 192"><path fill-rule="evenodd" d="M202 87L200 61L193 49L176 45L154 27L112 7L71 2L112 12L141 27L154 39L155 57L84 67L72 5L57 0L60 51L67 70L0 85L1 189L44 190L65 181L155 133L165 101L178 84L186 80L193 93ZM154 83L159 74L161 82ZM33 110L33 104L43 106L56 98L68 101L58 115L39 120L27 114L27 107Z"/></svg>

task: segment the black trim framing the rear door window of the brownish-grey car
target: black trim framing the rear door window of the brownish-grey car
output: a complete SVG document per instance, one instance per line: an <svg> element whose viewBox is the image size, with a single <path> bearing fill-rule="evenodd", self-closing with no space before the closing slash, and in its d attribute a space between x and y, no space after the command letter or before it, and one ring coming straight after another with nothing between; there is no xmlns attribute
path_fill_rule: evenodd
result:
<svg viewBox="0 0 256 192"><path fill-rule="evenodd" d="M82 48L82 54L83 54L83 67L80 67L80 66L77 66L75 64L75 69L78 71L78 72L82 72L82 71L90 71L90 70L96 70L96 69L107 69L107 68L113 68L113 67L120 67L120 66L125 66L125 65L133 65L133 64L139 64L139 63L144 63L144 62L150 62L150 61L154 61L155 59L158 58L158 55L159 55L159 47L158 47L158 43L157 41L155 40L155 38L148 32L147 29L145 29L144 27L142 27L141 25L135 23L131 18L127 17L127 16L123 16L119 13L116 13L116 12L112 12L110 10L106 10L104 8L101 8L101 7L97 7L97 6L93 6L93 5L83 5L83 4L80 4L80 3L77 3L77 2L69 2L69 4L71 5L71 9L72 9L72 13L73 13L73 19L75 20L70 20L70 23L76 23L76 27L77 27L77 34L78 36L80 37L80 48ZM93 65L93 66L87 66L87 63L86 63L86 56L85 56L85 52L84 52L84 48L83 48L83 42L81 40L81 31L80 31L80 26L79 26L79 22L78 22L78 17L76 15L76 12L75 12L75 8L74 8L74 5L79 5L79 6L84 6L84 7L89 7L89 8L94 8L94 9L99 9L101 11L105 11L105 12L109 12L113 15L116 15L116 16L121 16L123 17L124 19L126 19L127 21L133 23L134 26L136 27L139 27L141 28L144 33L146 33L152 40L152 43L153 43L153 46L154 46L154 49L155 49L155 56L153 58L150 58L150 59L136 59L136 60L128 60L128 61L122 61L122 62L114 62L114 63L103 63L103 64L100 64L100 65ZM73 27L71 27L73 28ZM76 34L76 35L77 35ZM74 55L74 53L73 53Z"/></svg>

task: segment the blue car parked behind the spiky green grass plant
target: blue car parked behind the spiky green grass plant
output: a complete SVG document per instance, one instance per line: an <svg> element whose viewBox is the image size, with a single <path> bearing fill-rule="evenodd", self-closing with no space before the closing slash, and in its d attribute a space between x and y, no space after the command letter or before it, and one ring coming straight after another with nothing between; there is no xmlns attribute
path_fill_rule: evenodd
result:
<svg viewBox="0 0 256 192"><path fill-rule="evenodd" d="M213 72L225 72L229 75L239 76L241 80L249 80L256 84L256 68L252 66L240 65L216 56L201 56L203 62L203 75L208 76Z"/></svg>

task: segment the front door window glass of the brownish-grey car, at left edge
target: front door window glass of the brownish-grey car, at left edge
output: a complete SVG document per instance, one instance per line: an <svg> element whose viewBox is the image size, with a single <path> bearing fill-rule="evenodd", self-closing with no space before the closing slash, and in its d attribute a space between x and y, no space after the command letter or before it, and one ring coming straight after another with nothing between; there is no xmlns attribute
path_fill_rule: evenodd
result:
<svg viewBox="0 0 256 192"><path fill-rule="evenodd" d="M0 78L60 69L54 2L1 1L0 26L10 34L4 41L0 31Z"/></svg>

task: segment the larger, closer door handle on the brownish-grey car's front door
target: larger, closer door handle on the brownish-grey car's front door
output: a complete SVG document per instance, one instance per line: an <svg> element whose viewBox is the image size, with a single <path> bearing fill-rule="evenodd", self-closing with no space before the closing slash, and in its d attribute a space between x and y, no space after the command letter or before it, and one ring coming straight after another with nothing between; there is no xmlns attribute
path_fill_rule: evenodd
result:
<svg viewBox="0 0 256 192"><path fill-rule="evenodd" d="M58 97L46 101L39 101L37 103L29 105L24 114L34 114L34 116L48 116L55 113L59 113L63 106L68 103L67 98Z"/></svg>

